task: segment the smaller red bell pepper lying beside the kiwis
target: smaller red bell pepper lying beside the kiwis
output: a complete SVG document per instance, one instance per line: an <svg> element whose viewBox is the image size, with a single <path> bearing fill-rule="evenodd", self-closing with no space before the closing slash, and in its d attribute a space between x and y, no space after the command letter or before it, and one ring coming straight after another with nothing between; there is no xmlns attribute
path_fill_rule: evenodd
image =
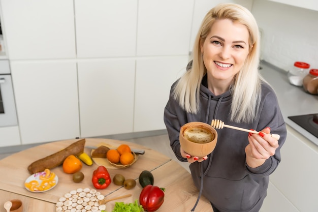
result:
<svg viewBox="0 0 318 212"><path fill-rule="evenodd" d="M105 166L99 166L94 170L91 181L95 188L106 189L112 180Z"/></svg>

